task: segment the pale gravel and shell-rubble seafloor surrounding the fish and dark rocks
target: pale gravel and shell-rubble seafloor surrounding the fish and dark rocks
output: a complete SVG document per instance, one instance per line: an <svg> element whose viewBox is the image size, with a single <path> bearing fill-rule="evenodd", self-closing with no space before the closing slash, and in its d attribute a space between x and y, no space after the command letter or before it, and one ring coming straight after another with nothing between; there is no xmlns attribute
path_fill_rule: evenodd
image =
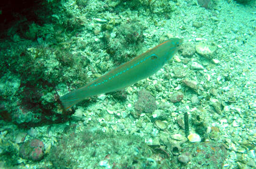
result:
<svg viewBox="0 0 256 169"><path fill-rule="evenodd" d="M173 59L156 74L126 88L128 94L124 101L118 101L109 94L100 95L89 103L75 106L73 108L75 114L71 115L69 120L57 124L42 124L32 129L18 128L17 125L5 122L2 118L1 169L256 168L255 2L243 5L232 0L218 0L209 8L203 8L195 0L156 2L140 0L138 1L140 5L152 3L151 5L155 8L147 10L145 5L143 8L130 9L124 8L124 4L118 14L115 10L108 9L126 2L118 0L80 0L79 2L63 0L59 6L62 10L55 11L52 17L61 20L58 14L66 12L73 18L82 18L83 24L79 27L78 33L73 33L73 37L69 38L64 36L65 40L60 41L66 45L65 42L72 39L72 43L68 44L72 54L84 54L90 58L90 67L86 68L89 72L87 72L88 81L94 79L93 76L90 77L91 69L98 72L99 67L107 65L107 70L100 73L104 74L108 68L116 66L111 59L102 61L101 57L109 54L103 50L104 47L97 46L97 44L102 45L105 31L101 30L101 26L104 23L113 26L110 30L112 38L115 37L122 23L136 20L136 24L142 25L143 41L140 43L140 49L136 51L137 54L172 37L183 38L182 51L176 53ZM85 9L79 7L81 4ZM98 15L93 13L98 11L97 8L107 9ZM86 15L88 12L86 9L91 9L89 10L91 18ZM168 13L168 16L165 13ZM116 23L113 24L113 22ZM18 36L18 34L12 35L6 41L25 41ZM34 43L42 43L41 40L41 38L34 39ZM80 41L88 45L79 47L77 44ZM43 43L47 46L48 41L45 40ZM210 56L211 58L206 59L198 52L195 53L194 48L199 44L203 44L204 47L205 45L215 47L216 50ZM119 45L122 46L122 44ZM186 46L190 49L186 49ZM188 53L191 52L192 55L187 57L185 50L189 50ZM8 52L6 54L8 55ZM197 65L193 66L192 63ZM179 72L177 73L176 70ZM193 90L187 86L184 79L196 82L196 89ZM5 83L1 81L1 90L4 89L4 85ZM59 95L67 92L66 84L60 82L58 86L62 87L59 88ZM134 105L138 100L137 93L141 89L148 90L156 98L157 112L160 112L159 116L164 114L163 118L158 121L152 120L154 112L141 113L140 116L134 115L136 111ZM172 103L170 98L177 91L182 92L183 99L179 103ZM190 133L196 133L194 121L198 117L203 123L202 127L206 129L204 133L206 138L201 142L206 145L209 142L222 145L227 149L223 156L216 157L216 161L211 161L213 159L209 158L201 159L202 162L199 162L194 154L187 154L188 162L177 162L177 155L184 153L182 149L197 144L184 138L184 129L179 125L178 119L185 112L189 114ZM72 130L66 130L67 126ZM94 133L94 136L87 131ZM100 131L107 135L111 134L102 136ZM21 133L28 133L28 135ZM89 138L82 136L81 133L89 135ZM17 136L20 135L23 135L25 140L17 140ZM133 136L136 137L133 138ZM23 142L33 138L38 138L44 143L44 156L41 161L19 157L19 147ZM62 140L62 145L58 145L63 138L66 141ZM83 142L84 139L89 140L82 143L84 146L77 143ZM134 139L134 142L131 139ZM183 141L187 142L183 143ZM5 146L9 145L4 144L6 142L12 145L11 150L5 150ZM156 152L152 147L148 149L143 147L144 143L161 146ZM171 155L170 149L174 144L178 144L178 154ZM60 153L56 153L57 151ZM147 151L147 153L141 151ZM221 162L223 167L215 165L215 162Z"/></svg>

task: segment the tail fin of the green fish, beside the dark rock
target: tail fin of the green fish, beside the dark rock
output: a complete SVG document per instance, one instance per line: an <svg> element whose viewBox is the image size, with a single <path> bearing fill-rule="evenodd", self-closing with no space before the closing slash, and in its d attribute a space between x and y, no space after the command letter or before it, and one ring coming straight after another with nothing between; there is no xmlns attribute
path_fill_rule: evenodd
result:
<svg viewBox="0 0 256 169"><path fill-rule="evenodd" d="M68 110L69 108L74 106L76 103L84 100L84 98L80 98L79 96L77 96L76 91L73 91L60 97L59 100L61 101L63 108L65 110Z"/></svg>

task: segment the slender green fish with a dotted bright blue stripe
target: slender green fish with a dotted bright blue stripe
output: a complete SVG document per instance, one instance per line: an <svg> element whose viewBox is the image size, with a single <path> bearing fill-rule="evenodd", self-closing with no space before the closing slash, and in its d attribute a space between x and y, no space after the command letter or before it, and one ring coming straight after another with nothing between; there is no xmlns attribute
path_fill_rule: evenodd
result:
<svg viewBox="0 0 256 169"><path fill-rule="evenodd" d="M141 79L153 75L173 57L181 43L181 38L169 38L147 52L136 56L131 61L127 61L112 69L89 84L66 93L59 98L62 107L64 110L68 110L88 97L122 90Z"/></svg>

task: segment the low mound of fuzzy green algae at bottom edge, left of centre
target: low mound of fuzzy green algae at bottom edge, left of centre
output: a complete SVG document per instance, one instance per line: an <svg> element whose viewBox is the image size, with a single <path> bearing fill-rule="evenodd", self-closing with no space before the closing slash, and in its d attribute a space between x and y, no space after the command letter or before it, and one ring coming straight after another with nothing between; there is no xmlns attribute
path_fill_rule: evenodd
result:
<svg viewBox="0 0 256 169"><path fill-rule="evenodd" d="M70 155L72 154L72 155ZM96 131L68 132L50 150L48 160L55 169L135 168L156 169L149 162L151 149L135 135ZM102 164L104 163L104 165ZM155 165L155 167L152 167ZM167 166L166 166L167 167Z"/></svg>

